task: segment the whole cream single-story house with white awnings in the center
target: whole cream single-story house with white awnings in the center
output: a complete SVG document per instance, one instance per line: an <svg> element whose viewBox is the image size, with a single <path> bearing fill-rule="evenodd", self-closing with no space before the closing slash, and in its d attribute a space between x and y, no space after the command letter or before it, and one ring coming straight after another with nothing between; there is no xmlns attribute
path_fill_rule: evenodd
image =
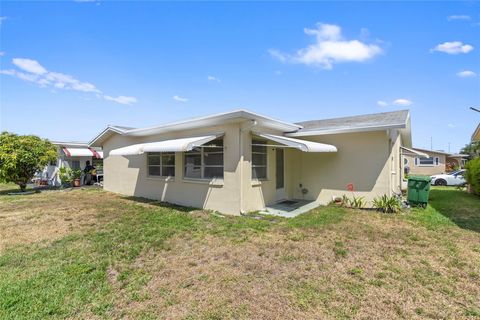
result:
<svg viewBox="0 0 480 320"><path fill-rule="evenodd" d="M154 127L108 126L104 189L241 214L286 199L327 204L400 192L408 110L289 123L238 110ZM354 189L354 192L347 191Z"/></svg>

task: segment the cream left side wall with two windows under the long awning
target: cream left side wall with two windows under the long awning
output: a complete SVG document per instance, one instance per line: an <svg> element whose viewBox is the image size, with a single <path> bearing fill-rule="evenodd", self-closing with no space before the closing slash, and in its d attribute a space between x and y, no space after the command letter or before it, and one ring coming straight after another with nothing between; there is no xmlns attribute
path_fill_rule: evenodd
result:
<svg viewBox="0 0 480 320"><path fill-rule="evenodd" d="M149 177L147 155L109 156L112 149L136 143L161 141L195 135L225 132L223 181L184 178L182 152L175 154L175 177ZM240 124L186 130L148 137L115 135L103 145L104 189L129 196L145 197L180 204L240 214Z"/></svg>

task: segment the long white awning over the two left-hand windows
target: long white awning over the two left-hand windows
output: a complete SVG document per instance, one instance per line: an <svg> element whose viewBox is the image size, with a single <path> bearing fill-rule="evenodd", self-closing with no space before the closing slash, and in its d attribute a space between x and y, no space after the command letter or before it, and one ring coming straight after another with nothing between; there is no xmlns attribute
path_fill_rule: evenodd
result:
<svg viewBox="0 0 480 320"><path fill-rule="evenodd" d="M211 134L200 137L189 137L181 139L164 140L158 142L139 143L110 151L111 156L133 156L145 152L184 152L200 147L205 143L215 140L221 134Z"/></svg>

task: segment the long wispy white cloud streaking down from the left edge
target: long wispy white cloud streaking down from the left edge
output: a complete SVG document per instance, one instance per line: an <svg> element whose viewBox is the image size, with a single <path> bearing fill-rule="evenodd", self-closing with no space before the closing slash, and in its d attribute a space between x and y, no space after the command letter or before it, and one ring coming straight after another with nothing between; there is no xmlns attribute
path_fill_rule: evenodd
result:
<svg viewBox="0 0 480 320"><path fill-rule="evenodd" d="M63 90L96 93L99 98L103 97L105 100L115 101L120 104L132 104L137 102L135 97L118 96L114 98L104 95L94 84L80 81L69 74L48 71L36 60L14 58L12 63L21 71L15 69L0 70L0 74L16 77L23 81L33 82L42 88L53 87Z"/></svg>

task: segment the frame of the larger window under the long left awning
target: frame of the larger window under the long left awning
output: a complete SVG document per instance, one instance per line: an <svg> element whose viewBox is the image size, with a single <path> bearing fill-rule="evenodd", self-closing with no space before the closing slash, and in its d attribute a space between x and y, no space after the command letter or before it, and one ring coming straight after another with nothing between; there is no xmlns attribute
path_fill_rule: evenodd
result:
<svg viewBox="0 0 480 320"><path fill-rule="evenodd" d="M216 141L222 141L221 146L215 145ZM196 147L191 151L183 152L183 166L182 166L182 175L184 180L201 180L201 181L211 181L211 180L223 180L225 176L225 141L223 138L217 138L208 142L209 144L204 144L202 146ZM218 148L221 151L205 151L205 148ZM187 161L186 158L188 155L199 154L200 155L200 165L194 165L193 167L200 168L200 177L189 177L186 174ZM205 164L205 154L221 154L222 155L222 164ZM221 177L205 177L206 168L222 168Z"/></svg>

